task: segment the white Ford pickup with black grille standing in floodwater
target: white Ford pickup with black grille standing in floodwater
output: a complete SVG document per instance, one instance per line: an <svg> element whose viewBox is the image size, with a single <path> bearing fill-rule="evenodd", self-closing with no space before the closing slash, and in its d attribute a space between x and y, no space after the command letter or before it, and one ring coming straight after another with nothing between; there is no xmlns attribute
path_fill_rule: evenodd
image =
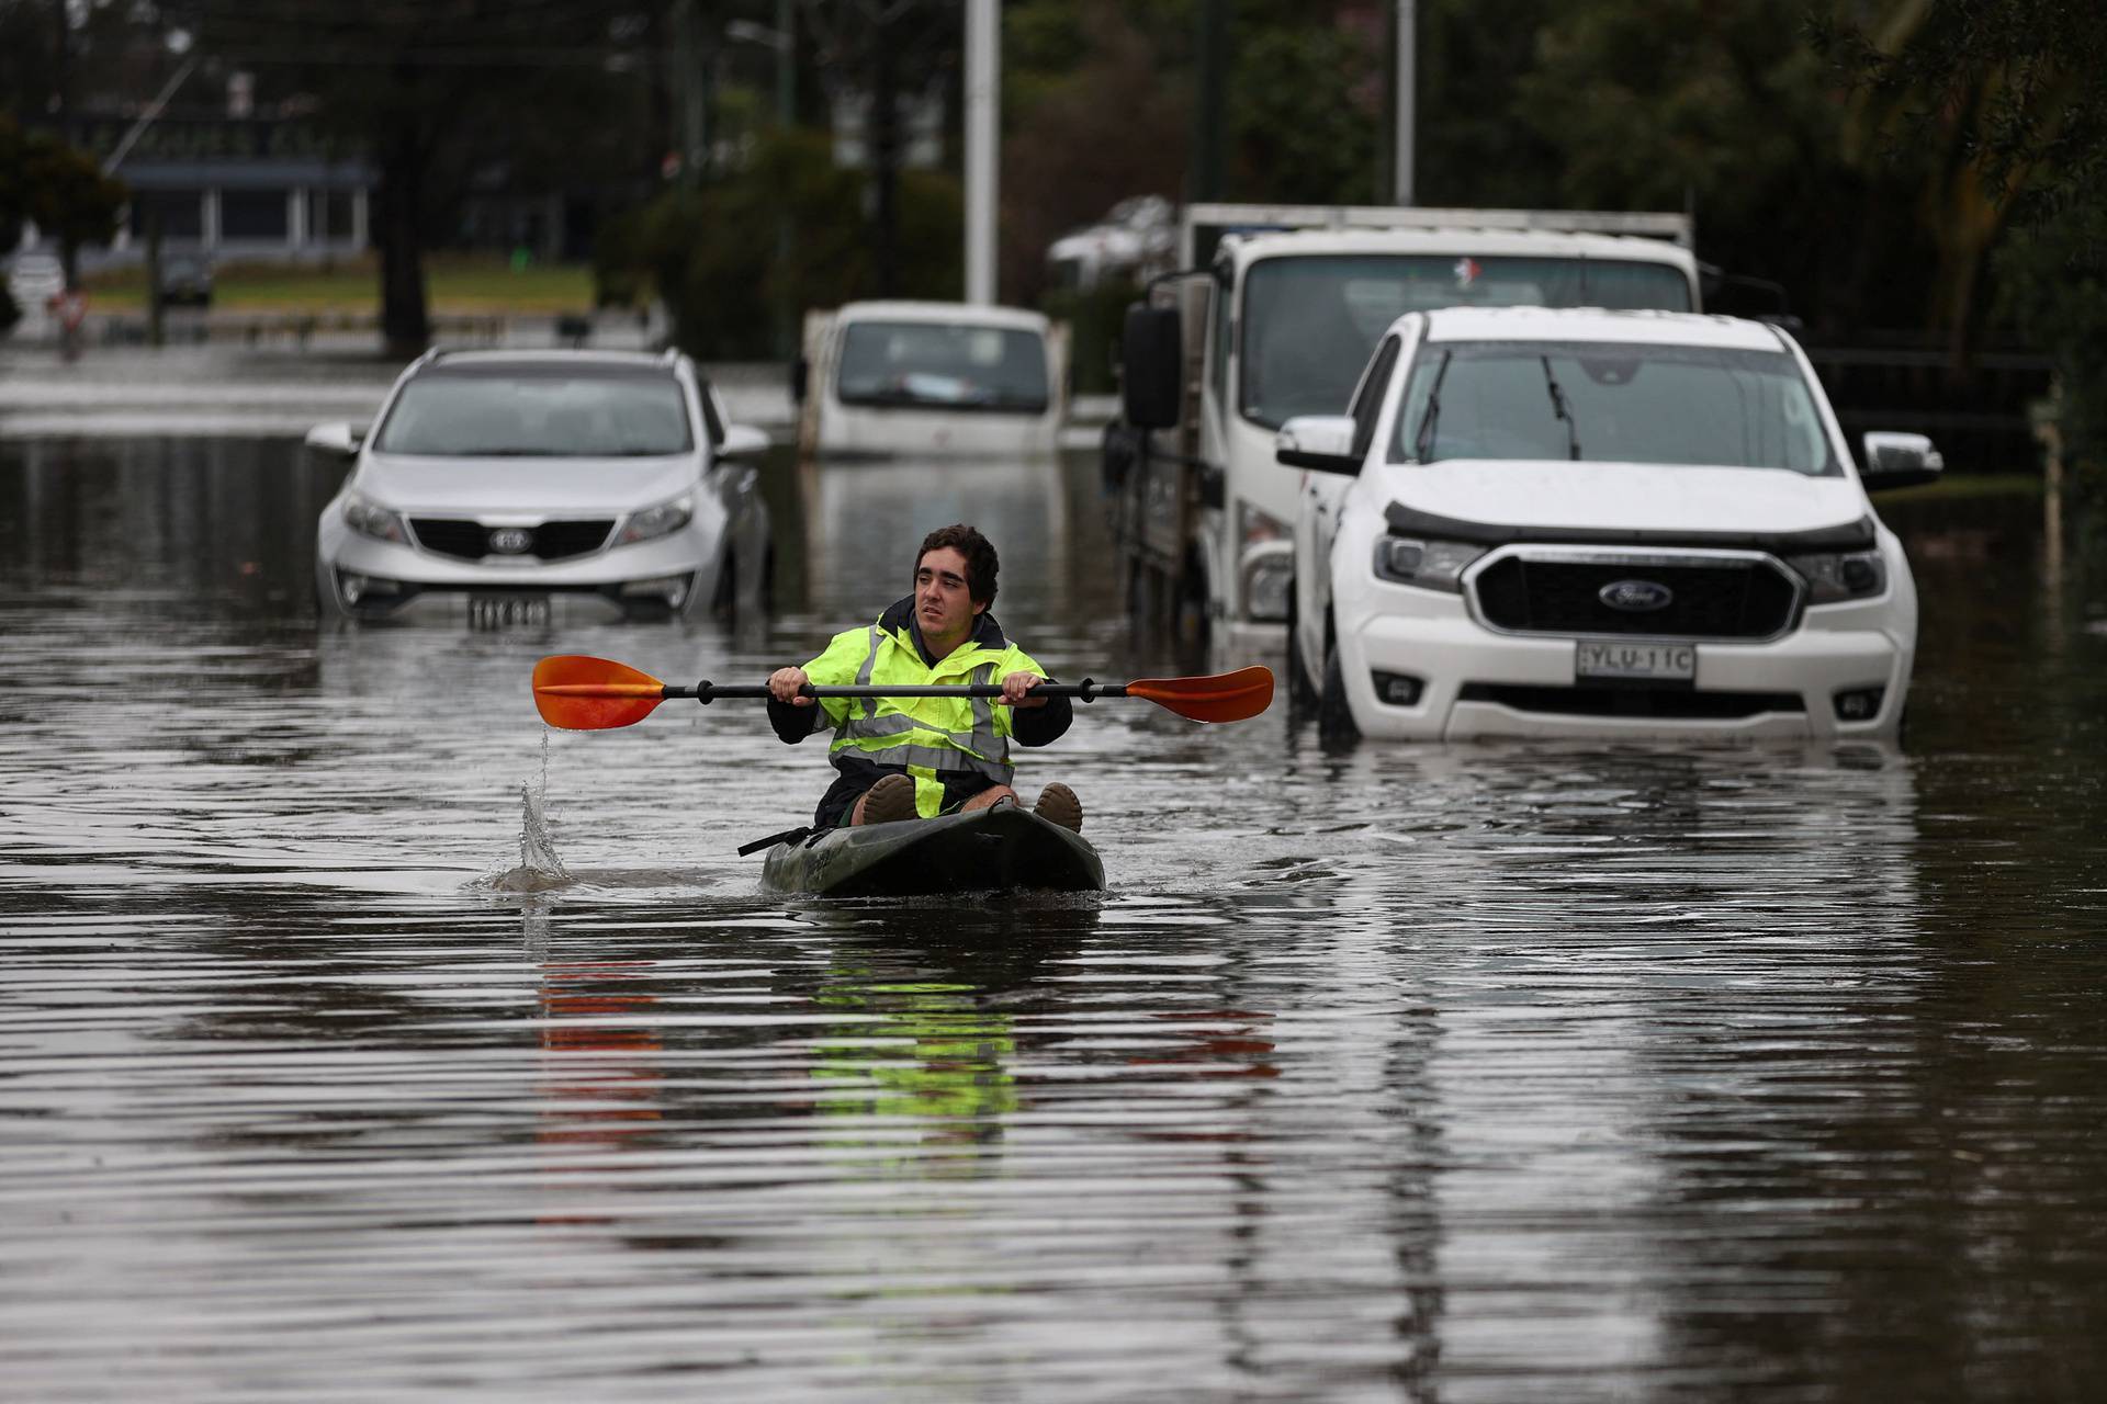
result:
<svg viewBox="0 0 2107 1404"><path fill-rule="evenodd" d="M1292 684L1372 737L1892 737L1917 594L1867 486L1938 469L1869 434L1759 322L1399 318L1302 467Z"/></svg>

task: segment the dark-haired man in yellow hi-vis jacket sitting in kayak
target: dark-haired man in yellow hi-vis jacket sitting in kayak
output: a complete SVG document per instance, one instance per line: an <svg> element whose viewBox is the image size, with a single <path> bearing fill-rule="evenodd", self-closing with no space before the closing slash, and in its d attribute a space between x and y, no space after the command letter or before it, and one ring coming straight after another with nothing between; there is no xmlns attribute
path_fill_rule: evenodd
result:
<svg viewBox="0 0 2107 1404"><path fill-rule="evenodd" d="M864 629L836 634L805 667L769 674L769 724L784 741L834 728L836 777L815 827L933 819L1016 802L1009 741L1047 745L1075 716L1066 697L1035 695L1045 671L1003 638L995 602L995 545L971 526L942 526L914 554L914 591ZM801 697L847 684L990 684L1003 697ZM1039 791L1035 813L1083 829L1083 806L1062 783Z"/></svg>

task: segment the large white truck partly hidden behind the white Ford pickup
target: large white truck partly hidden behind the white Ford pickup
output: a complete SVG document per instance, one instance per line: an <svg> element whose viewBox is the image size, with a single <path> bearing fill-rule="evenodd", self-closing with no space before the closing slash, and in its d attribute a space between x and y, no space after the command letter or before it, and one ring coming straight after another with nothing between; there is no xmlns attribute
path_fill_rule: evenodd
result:
<svg viewBox="0 0 2107 1404"><path fill-rule="evenodd" d="M1344 413L1399 316L1702 301L1683 215L1195 204L1180 238L1127 318L1104 478L1129 598L1190 640L1281 638L1298 484L1273 436Z"/></svg>

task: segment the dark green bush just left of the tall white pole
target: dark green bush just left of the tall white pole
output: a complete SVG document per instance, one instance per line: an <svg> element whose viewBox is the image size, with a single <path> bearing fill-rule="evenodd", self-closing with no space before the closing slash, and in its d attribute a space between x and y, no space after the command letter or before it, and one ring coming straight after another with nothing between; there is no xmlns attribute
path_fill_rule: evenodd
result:
<svg viewBox="0 0 2107 1404"><path fill-rule="evenodd" d="M784 312L858 297L957 299L963 286L963 202L948 175L900 175L900 286L881 290L864 217L866 175L834 166L815 131L769 131L748 168L704 189L672 192L603 238L603 295L649 280L674 343L708 360L775 352ZM788 257L775 253L777 217Z"/></svg>

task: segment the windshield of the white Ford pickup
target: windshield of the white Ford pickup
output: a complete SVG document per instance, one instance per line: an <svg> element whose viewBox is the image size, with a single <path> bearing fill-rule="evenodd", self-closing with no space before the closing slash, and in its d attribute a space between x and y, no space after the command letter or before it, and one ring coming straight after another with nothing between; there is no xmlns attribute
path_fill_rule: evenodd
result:
<svg viewBox="0 0 2107 1404"><path fill-rule="evenodd" d="M1629 341L1422 343L1391 463L1439 459L1844 472L1785 352Z"/></svg>

